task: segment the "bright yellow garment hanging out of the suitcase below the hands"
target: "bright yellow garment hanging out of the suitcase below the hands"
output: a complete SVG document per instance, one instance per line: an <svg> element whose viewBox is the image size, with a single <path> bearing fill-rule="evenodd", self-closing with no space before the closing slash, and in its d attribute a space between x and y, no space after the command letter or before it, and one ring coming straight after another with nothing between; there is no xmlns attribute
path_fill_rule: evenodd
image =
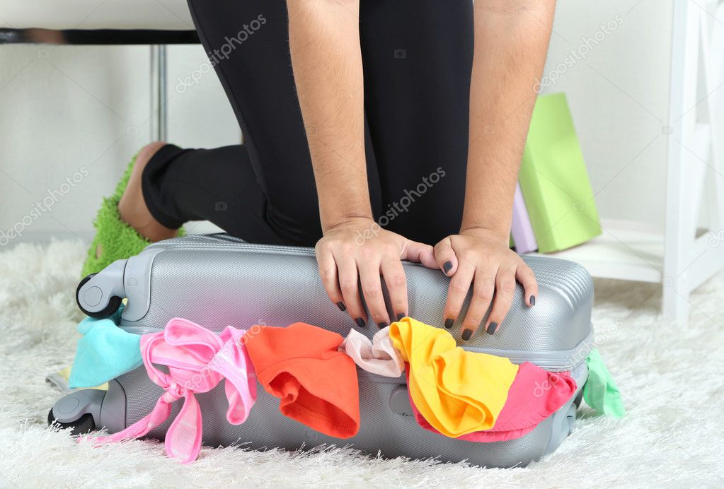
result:
<svg viewBox="0 0 724 489"><path fill-rule="evenodd" d="M392 323L390 339L409 363L411 399L435 429L457 438L495 425L518 365L466 352L447 331L413 318Z"/></svg>

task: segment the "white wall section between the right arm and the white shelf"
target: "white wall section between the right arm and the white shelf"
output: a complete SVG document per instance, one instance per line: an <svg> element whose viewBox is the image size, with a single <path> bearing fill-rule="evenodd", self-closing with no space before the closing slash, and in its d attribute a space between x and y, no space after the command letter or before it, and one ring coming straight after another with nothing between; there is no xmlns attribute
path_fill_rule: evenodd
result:
<svg viewBox="0 0 724 489"><path fill-rule="evenodd" d="M600 215L660 229L671 16L670 1L559 0L544 70L563 72L544 93L568 97ZM600 25L609 21L618 27L605 34ZM595 43L598 31L604 36ZM586 43L589 38L594 41ZM557 69L575 58L571 51L583 53L584 44L590 46L586 59Z"/></svg>

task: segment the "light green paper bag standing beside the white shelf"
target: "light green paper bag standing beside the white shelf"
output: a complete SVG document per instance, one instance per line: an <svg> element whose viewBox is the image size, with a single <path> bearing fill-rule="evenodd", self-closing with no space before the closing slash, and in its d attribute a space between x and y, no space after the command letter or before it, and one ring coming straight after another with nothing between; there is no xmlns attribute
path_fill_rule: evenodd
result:
<svg viewBox="0 0 724 489"><path fill-rule="evenodd" d="M539 252L565 250L601 234L565 94L539 95L518 179Z"/></svg>

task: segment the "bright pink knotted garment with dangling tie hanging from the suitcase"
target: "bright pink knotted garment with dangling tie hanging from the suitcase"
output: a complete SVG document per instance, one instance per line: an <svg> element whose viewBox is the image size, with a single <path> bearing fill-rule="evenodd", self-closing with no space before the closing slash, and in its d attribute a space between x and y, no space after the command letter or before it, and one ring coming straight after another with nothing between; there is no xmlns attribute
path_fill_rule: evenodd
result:
<svg viewBox="0 0 724 489"><path fill-rule="evenodd" d="M174 401L184 398L181 411L166 434L168 456L188 464L201 450L201 407L195 393L211 391L226 379L227 420L240 425L256 401L256 373L243 341L245 331L227 326L217 335L189 320L169 320L164 331L141 336L140 350L148 377L166 390L156 407L125 430L100 436L100 443L138 438L166 421ZM166 365L164 373L154 365Z"/></svg>

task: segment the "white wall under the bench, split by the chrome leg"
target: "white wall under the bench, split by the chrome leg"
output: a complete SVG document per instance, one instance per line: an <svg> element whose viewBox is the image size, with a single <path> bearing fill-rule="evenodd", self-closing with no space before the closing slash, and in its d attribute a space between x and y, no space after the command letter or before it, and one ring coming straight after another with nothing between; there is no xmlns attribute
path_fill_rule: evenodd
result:
<svg viewBox="0 0 724 489"><path fill-rule="evenodd" d="M169 80L206 61L201 46L171 46L169 59ZM213 74L185 93L169 85L169 140L239 142ZM101 197L149 142L149 86L147 46L0 46L0 231L16 226L25 239L92 237ZM68 177L80 180L70 191ZM49 190L56 202L38 213L35 203Z"/></svg>

